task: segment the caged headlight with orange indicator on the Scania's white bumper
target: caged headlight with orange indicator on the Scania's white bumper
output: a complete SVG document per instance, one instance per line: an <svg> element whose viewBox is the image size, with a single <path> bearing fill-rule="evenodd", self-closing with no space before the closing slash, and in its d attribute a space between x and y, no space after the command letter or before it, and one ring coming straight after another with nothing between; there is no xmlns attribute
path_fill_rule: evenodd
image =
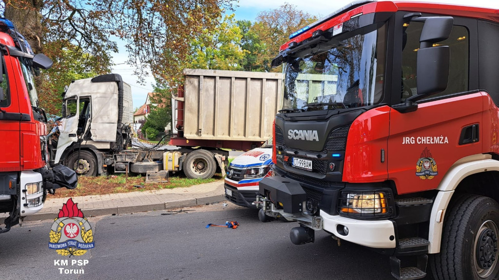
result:
<svg viewBox="0 0 499 280"><path fill-rule="evenodd" d="M340 213L361 214L362 216L386 214L388 205L386 193L346 193L341 194Z"/></svg>

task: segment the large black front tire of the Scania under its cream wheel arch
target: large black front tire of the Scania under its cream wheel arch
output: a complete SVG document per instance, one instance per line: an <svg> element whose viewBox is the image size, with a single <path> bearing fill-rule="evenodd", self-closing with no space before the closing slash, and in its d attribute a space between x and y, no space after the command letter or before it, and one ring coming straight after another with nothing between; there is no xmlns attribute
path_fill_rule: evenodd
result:
<svg viewBox="0 0 499 280"><path fill-rule="evenodd" d="M430 259L435 279L498 279L498 203L485 196L463 195L445 217L440 253Z"/></svg>

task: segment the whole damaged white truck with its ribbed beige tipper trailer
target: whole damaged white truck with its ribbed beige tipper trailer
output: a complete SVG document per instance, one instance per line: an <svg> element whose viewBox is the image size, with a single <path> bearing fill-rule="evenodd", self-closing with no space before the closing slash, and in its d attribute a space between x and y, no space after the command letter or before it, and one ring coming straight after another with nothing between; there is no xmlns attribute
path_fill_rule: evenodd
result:
<svg viewBox="0 0 499 280"><path fill-rule="evenodd" d="M272 135L280 108L280 74L185 69L172 98L169 146L132 141L132 93L117 74L72 82L64 94L52 163L79 175L183 171L189 178L225 175L229 149L250 150Z"/></svg>

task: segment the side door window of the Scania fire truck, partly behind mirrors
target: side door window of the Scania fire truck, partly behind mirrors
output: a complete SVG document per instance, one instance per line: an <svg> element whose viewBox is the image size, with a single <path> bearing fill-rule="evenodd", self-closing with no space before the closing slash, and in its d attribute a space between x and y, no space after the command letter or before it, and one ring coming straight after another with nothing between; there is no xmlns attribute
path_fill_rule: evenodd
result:
<svg viewBox="0 0 499 280"><path fill-rule="evenodd" d="M417 93L416 64L417 53L420 46L419 38L423 22L409 22L404 24L404 42L402 49L402 83L401 102ZM445 96L453 93L468 91L469 75L469 32L464 26L454 25L449 39L434 44L434 46L449 46L451 50L451 63L449 84L447 89L439 94Z"/></svg>

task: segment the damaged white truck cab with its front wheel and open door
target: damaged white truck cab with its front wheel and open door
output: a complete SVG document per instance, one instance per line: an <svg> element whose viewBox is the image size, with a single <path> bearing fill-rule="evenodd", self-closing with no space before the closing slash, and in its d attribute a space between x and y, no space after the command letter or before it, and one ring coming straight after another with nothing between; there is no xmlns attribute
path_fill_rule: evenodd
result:
<svg viewBox="0 0 499 280"><path fill-rule="evenodd" d="M100 174L106 164L99 150L126 149L132 123L132 92L120 75L73 81L64 93L53 162L80 175Z"/></svg>

